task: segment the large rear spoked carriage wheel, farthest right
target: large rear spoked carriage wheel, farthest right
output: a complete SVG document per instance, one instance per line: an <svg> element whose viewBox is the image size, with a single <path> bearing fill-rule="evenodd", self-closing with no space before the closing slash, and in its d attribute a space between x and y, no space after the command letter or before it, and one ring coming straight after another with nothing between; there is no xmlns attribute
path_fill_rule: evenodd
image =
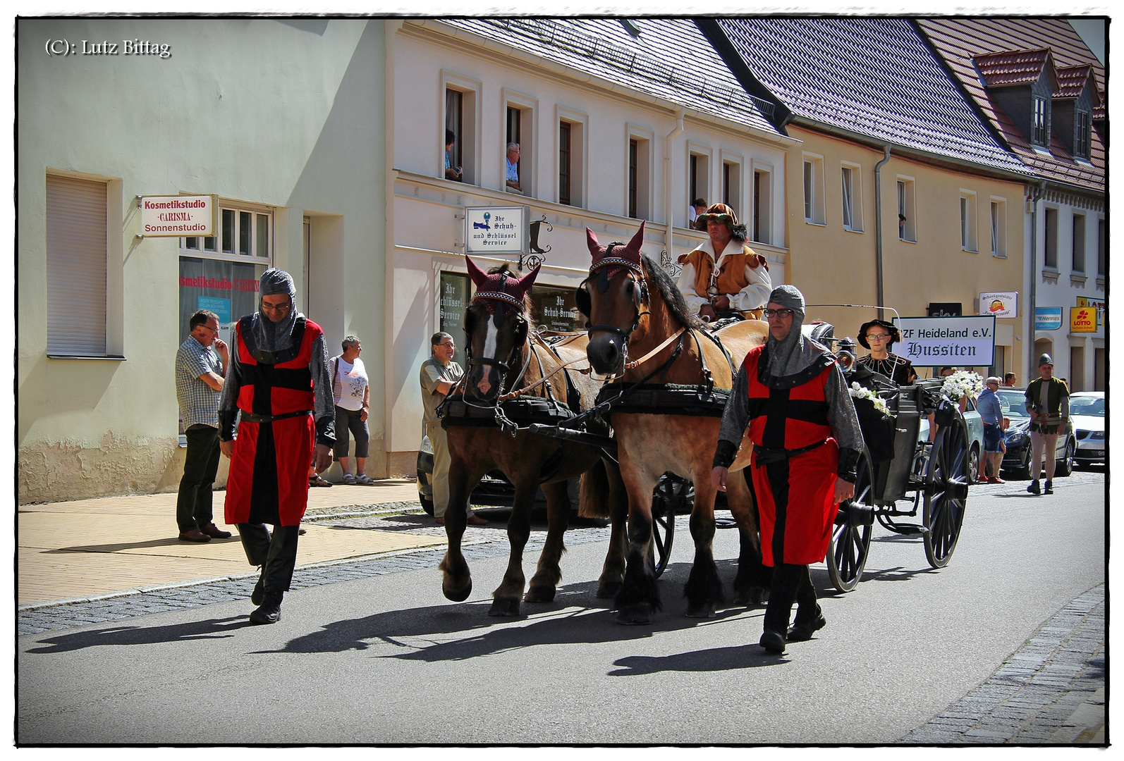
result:
<svg viewBox="0 0 1124 761"><path fill-rule="evenodd" d="M958 410L955 421L936 432L925 473L925 557L933 568L948 566L957 549L971 483L970 459L968 427Z"/></svg>

